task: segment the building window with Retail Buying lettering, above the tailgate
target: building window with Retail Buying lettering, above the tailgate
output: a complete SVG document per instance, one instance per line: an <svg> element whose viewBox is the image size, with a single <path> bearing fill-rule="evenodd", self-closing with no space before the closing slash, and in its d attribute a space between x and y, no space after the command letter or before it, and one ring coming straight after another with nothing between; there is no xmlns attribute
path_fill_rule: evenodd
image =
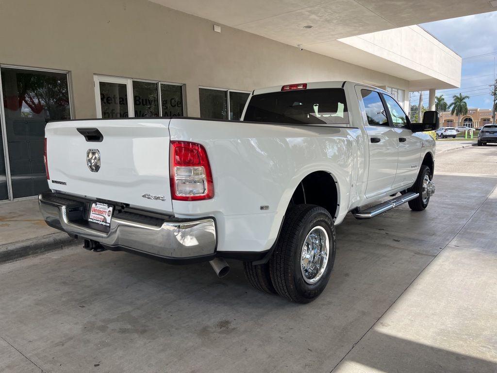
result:
<svg viewBox="0 0 497 373"><path fill-rule="evenodd" d="M94 81L99 118L184 115L181 84L96 75Z"/></svg>

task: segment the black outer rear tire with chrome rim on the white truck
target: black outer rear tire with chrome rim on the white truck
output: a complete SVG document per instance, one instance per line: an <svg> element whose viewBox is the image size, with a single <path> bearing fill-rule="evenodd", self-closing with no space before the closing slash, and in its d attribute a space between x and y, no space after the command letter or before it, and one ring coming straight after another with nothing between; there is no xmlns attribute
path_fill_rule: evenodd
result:
<svg viewBox="0 0 497 373"><path fill-rule="evenodd" d="M324 257L318 257L316 263L321 265L322 271L319 271L319 267L314 269L311 267L312 272L306 276L304 274L306 270L302 267L302 252L305 241L312 232L314 238L324 245L321 248L317 247L317 250L326 250L328 244L328 256L326 263ZM313 245L306 247L312 248ZM309 253L312 258L312 250ZM335 254L336 231L330 213L316 205L291 206L285 214L278 242L269 261L274 288L278 294L293 302L313 301L323 292L330 280ZM312 263L312 259L307 258L307 260L307 263Z"/></svg>

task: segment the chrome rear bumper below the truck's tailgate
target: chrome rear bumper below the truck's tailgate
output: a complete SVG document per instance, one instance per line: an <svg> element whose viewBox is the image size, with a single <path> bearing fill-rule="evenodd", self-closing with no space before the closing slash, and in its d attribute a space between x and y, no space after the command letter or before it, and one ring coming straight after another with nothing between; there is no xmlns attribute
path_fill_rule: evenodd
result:
<svg viewBox="0 0 497 373"><path fill-rule="evenodd" d="M163 258L187 259L216 252L216 224L213 218L193 221L164 219L157 226L113 217L110 230L101 232L71 221L68 217L70 203L53 195L39 195L40 211L48 225L70 235ZM83 205L83 202L80 203Z"/></svg>

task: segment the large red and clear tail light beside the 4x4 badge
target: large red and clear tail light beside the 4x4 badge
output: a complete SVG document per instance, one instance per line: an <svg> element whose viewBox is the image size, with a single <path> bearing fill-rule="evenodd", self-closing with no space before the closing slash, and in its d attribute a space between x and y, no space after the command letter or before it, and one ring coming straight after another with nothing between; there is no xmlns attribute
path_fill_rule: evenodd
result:
<svg viewBox="0 0 497 373"><path fill-rule="evenodd" d="M211 167L202 145L171 141L169 164L172 199L194 201L214 197Z"/></svg>

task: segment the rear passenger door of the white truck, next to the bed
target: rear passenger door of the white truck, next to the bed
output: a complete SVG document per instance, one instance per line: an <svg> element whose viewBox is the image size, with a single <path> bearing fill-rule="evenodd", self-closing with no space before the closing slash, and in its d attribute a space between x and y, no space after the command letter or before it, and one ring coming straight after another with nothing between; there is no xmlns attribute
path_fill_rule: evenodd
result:
<svg viewBox="0 0 497 373"><path fill-rule="evenodd" d="M380 93L356 86L364 129L368 135L369 172L366 197L392 189L397 173L399 134L390 125L390 118Z"/></svg>

